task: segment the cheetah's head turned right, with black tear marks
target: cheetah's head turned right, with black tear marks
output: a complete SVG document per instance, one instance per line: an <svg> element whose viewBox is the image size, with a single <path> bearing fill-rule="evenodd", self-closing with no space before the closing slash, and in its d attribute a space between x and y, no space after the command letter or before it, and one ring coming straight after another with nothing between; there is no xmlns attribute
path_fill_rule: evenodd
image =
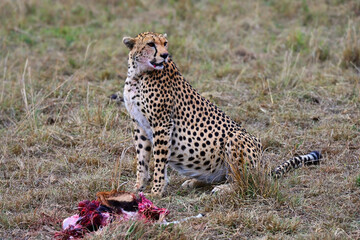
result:
<svg viewBox="0 0 360 240"><path fill-rule="evenodd" d="M124 37L123 43L130 49L129 63L133 60L141 71L161 70L168 60L166 33L140 33L135 38Z"/></svg>

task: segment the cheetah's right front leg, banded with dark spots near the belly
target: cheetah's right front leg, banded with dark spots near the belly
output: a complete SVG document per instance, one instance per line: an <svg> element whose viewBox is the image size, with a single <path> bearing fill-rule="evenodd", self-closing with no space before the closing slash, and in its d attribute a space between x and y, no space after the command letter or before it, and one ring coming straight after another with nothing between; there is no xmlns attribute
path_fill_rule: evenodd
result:
<svg viewBox="0 0 360 240"><path fill-rule="evenodd" d="M167 127L158 127L153 131L154 178L151 193L161 196L166 188L167 163L170 156L172 124Z"/></svg>

